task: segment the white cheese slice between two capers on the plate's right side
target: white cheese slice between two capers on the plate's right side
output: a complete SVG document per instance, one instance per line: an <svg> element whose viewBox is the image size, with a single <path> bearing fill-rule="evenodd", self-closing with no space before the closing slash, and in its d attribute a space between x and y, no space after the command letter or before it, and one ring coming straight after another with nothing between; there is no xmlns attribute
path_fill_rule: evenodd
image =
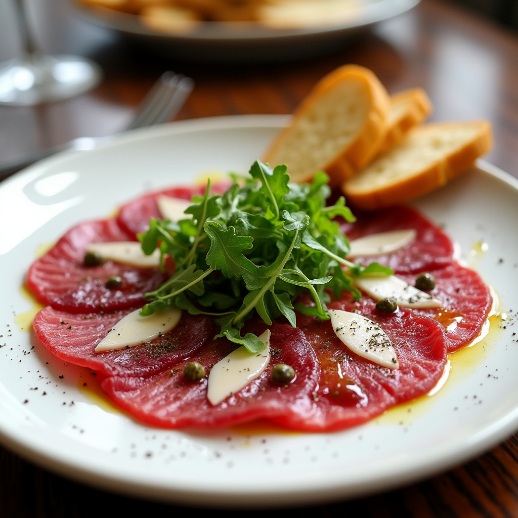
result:
<svg viewBox="0 0 518 518"><path fill-rule="evenodd" d="M397 305L404 308L440 308L442 306L440 300L407 284L395 275L357 277L354 283L373 299L394 297Z"/></svg>

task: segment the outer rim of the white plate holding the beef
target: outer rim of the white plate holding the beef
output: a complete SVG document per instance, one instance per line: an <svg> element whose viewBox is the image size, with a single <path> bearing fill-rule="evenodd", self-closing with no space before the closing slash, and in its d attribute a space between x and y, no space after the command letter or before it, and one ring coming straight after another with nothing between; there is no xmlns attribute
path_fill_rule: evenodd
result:
<svg viewBox="0 0 518 518"><path fill-rule="evenodd" d="M103 145L97 149L117 147L127 142L145 141L164 135L204 130L241 129L246 127L281 128L288 120L289 116L282 115L244 115L178 121L166 124L162 127L143 128L141 130L126 132L125 134L115 137L110 142L103 143ZM96 150L89 152L92 153L95 151ZM77 152L73 153L76 154ZM44 161L19 171L7 180L0 182L0 190L3 185L9 183L11 179L16 180L23 176L32 176L36 169L43 168L45 170L54 164L60 164L62 161L66 161L70 155L70 152L62 152L59 155L49 157ZM509 185L513 190L518 191L518 179L507 172L483 160L477 162L477 168L485 175L494 177ZM3 391L7 391L2 384L0 384L0 388ZM202 494L197 488L179 488L171 487L167 484L160 485L156 483L146 483L145 481L134 482L131 480L125 480L123 484L124 487L121 487L121 479L119 477L112 477L109 474L99 473L84 466L74 465L71 464L70 461L66 462L63 458L53 456L48 451L40 451L34 444L25 443L23 438L17 439L16 434L12 433L10 428L8 423L6 424L0 419L0 442L2 442L5 447L41 468L86 485L94 486L102 490L113 491L114 493L125 494L127 496L139 496L145 499L182 503L184 505L192 505L192 497L196 496L196 506L266 508L279 507L282 505L293 506L294 504L307 505L309 503L323 501L357 498L428 478L438 472L462 464L467 459L481 454L512 434L518 429L518 406L496 422L492 422L490 425L486 425L484 428L477 430L477 433L469 438L468 444L466 444L466 437L462 438L462 440L458 439L455 442L451 442L446 449L442 446L440 455L437 455L434 447L431 452L420 456L419 463L413 462L410 466L406 463L404 469L401 467L393 469L390 480L387 480L386 474L380 474L378 476L375 474L375 476L369 477L368 481L370 487L365 486L365 480L358 480L354 484L349 484L344 487L340 485L340 480L338 479L336 483L327 484L325 488L318 487L311 489L310 487L303 486L300 488L292 487L287 491L277 488L276 491L270 491L269 493L232 488L232 490L227 489L224 493L220 490L204 490ZM95 477L92 478L92 475L95 475Z"/></svg>

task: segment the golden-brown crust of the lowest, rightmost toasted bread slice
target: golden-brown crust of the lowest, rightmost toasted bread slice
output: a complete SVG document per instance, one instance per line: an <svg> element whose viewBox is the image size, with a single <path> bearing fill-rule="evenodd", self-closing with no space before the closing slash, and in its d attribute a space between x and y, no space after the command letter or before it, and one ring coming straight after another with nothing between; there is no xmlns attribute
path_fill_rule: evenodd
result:
<svg viewBox="0 0 518 518"><path fill-rule="evenodd" d="M414 174L396 181L387 180L380 188L358 188L352 181L342 183L342 191L347 196L348 203L363 210L376 210L384 207L408 202L429 193L449 180L461 175L475 163L478 157L487 153L493 145L491 123L489 121L473 121L468 123L435 123L415 128L413 132L423 129L448 131L449 128L465 125L478 125L479 129L474 137L452 153L441 157ZM383 172L380 172L383 174ZM354 183L361 176L359 172Z"/></svg>

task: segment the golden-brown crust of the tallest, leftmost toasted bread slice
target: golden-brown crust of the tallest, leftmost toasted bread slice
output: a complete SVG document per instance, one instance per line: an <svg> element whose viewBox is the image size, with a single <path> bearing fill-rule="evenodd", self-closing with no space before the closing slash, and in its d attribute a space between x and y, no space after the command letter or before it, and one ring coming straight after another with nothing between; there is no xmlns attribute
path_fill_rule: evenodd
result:
<svg viewBox="0 0 518 518"><path fill-rule="evenodd" d="M340 82L349 80L360 81L364 85L369 105L367 116L349 145L327 164L322 164L320 168L329 175L329 184L336 186L343 180L350 178L356 170L367 165L378 152L385 137L390 97L376 75L371 70L358 65L341 66L323 77L314 86L313 90L295 110L291 125L282 130L272 142L264 155L264 161L271 162L271 157L278 152L292 128L296 126L300 118L317 100L333 90ZM308 171L307 174L292 179L296 182L307 182L311 180L314 173L315 171Z"/></svg>

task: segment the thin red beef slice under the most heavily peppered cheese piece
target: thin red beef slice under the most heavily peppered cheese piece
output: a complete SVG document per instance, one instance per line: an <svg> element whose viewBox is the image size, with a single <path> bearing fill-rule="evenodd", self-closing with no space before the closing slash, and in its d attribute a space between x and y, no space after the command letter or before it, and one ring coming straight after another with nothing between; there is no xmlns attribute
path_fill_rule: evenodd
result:
<svg viewBox="0 0 518 518"><path fill-rule="evenodd" d="M297 315L322 369L313 413L306 419L274 418L305 431L333 431L362 424L386 409L426 394L438 382L447 361L442 326L412 311L381 314L372 300L349 296L330 308L354 311L378 322L394 343L399 369L381 367L348 349L330 321ZM295 416L296 417L296 416Z"/></svg>

